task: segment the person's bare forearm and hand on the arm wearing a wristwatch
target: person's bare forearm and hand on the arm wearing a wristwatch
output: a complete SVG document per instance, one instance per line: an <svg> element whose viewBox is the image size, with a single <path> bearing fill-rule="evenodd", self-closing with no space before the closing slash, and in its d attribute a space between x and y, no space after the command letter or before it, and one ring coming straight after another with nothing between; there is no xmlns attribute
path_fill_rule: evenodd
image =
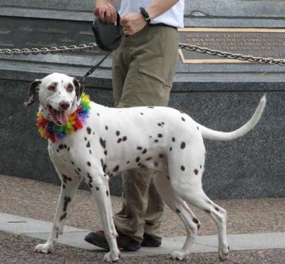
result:
<svg viewBox="0 0 285 264"><path fill-rule="evenodd" d="M150 16L150 20L152 20L171 9L178 1L179 0L154 0L145 10ZM120 19L120 23L123 26L123 33L125 35L133 35L141 31L147 24L140 13L125 14L125 16Z"/></svg>

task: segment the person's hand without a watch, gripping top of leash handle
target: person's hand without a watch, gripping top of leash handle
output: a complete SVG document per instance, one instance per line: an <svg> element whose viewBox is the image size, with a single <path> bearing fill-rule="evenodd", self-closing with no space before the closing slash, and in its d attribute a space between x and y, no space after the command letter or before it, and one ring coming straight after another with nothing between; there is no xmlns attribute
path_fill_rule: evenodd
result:
<svg viewBox="0 0 285 264"><path fill-rule="evenodd" d="M117 20L117 11L114 7L114 1L96 0L94 14L95 16L99 16L102 23L115 23Z"/></svg>

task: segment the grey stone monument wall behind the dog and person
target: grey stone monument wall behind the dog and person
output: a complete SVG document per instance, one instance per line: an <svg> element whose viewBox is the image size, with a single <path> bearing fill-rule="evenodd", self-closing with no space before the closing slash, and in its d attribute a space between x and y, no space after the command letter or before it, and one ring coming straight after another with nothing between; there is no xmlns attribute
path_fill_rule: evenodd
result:
<svg viewBox="0 0 285 264"><path fill-rule="evenodd" d="M0 0L0 48L62 46L93 42L92 1ZM283 1L186 1L185 26L284 28ZM28 84L53 72L81 76L103 53L0 55L0 174L59 184L47 142L36 129L36 105L24 108ZM86 80L95 102L112 106L111 58ZM170 107L215 130L243 125L266 93L257 127L232 142L205 140L204 190L212 198L285 196L284 67L232 63L184 65L178 58ZM85 187L85 186L83 186ZM120 194L120 178L111 181Z"/></svg>

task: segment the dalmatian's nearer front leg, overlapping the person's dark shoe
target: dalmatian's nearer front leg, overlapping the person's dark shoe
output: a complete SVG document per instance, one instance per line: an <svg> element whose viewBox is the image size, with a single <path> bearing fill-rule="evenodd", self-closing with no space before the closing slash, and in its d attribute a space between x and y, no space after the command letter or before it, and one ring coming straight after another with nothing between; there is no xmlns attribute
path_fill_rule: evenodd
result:
<svg viewBox="0 0 285 264"><path fill-rule="evenodd" d="M104 261L117 261L120 258L120 251L118 250L116 241L117 232L113 223L108 176L103 171L93 171L89 176L92 178L92 181L89 181L88 184L95 195L105 238L110 248L110 252L104 256Z"/></svg>

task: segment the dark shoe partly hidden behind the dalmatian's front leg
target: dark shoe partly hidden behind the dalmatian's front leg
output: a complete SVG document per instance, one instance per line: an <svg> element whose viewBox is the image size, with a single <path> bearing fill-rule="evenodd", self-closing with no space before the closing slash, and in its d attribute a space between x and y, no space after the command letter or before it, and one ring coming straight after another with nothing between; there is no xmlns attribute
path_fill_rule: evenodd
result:
<svg viewBox="0 0 285 264"><path fill-rule="evenodd" d="M90 244L97 245L99 248L110 250L103 231L88 233L84 240ZM125 236L122 233L118 233L117 243L118 248L123 248L125 251L136 251L140 249L140 243L138 243L138 241L135 241L133 238Z"/></svg>

